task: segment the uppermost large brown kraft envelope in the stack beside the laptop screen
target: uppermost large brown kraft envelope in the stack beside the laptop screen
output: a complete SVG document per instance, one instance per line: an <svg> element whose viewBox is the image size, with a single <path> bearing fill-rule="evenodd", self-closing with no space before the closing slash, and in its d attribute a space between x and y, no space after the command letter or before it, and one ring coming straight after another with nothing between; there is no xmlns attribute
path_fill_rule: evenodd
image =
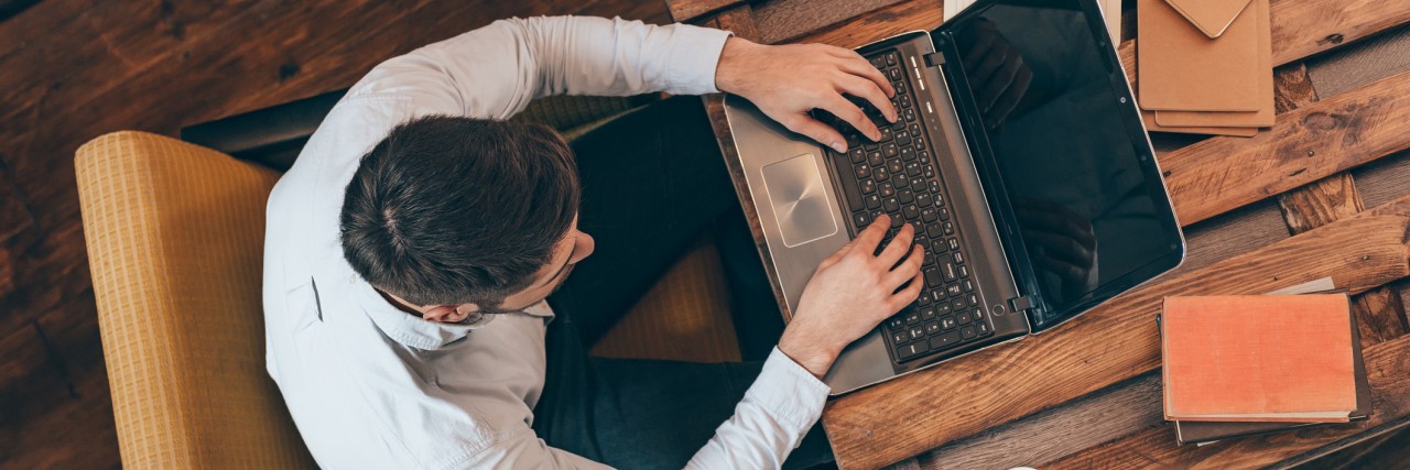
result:
<svg viewBox="0 0 1410 470"><path fill-rule="evenodd" d="M1249 3L1138 0L1141 106L1152 111L1258 111L1258 18L1242 14L1255 10ZM1221 27L1224 18L1230 18L1227 27Z"/></svg>

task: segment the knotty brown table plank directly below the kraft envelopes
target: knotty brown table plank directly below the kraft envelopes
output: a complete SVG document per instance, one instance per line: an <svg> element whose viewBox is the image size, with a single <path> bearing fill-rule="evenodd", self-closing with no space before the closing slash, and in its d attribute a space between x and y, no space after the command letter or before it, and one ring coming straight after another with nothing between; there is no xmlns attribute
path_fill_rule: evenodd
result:
<svg viewBox="0 0 1410 470"><path fill-rule="evenodd" d="M1182 225L1410 148L1410 72L1282 114L1252 138L1215 136L1162 155Z"/></svg>

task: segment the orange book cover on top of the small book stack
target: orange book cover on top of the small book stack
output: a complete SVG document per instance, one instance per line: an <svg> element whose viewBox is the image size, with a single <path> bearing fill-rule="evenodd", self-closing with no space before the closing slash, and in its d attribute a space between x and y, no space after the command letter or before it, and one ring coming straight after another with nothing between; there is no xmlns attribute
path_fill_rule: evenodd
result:
<svg viewBox="0 0 1410 470"><path fill-rule="evenodd" d="M1345 422L1356 409L1347 294L1167 297L1165 418Z"/></svg>

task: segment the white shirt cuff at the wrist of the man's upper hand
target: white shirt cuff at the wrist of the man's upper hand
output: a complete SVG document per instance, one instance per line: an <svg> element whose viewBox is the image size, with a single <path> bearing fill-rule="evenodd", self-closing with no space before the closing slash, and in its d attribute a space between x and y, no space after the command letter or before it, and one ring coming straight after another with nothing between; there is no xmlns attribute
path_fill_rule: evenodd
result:
<svg viewBox="0 0 1410 470"><path fill-rule="evenodd" d="M719 91L715 87L715 68L719 66L719 53L725 51L725 39L729 39L730 32L688 24L675 24L673 28L667 87L675 94Z"/></svg>

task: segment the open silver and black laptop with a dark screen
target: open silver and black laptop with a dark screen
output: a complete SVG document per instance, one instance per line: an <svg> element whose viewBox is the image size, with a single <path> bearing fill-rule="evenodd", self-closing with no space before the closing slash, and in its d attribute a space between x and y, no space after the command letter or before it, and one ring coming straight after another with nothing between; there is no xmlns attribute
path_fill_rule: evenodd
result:
<svg viewBox="0 0 1410 470"><path fill-rule="evenodd" d="M823 379L833 394L1042 334L1184 260L1112 44L1096 0L981 0L864 45L901 118L853 99L881 129L873 142L814 111L847 152L725 99L790 311L880 214L885 242L911 224L929 249L919 300L842 353Z"/></svg>

